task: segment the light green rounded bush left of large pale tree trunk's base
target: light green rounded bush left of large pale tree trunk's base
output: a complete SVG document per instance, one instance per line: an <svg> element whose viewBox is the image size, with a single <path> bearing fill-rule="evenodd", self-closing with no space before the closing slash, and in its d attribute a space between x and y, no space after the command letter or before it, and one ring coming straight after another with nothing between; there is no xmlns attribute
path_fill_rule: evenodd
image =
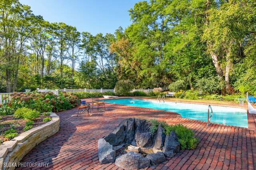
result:
<svg viewBox="0 0 256 170"><path fill-rule="evenodd" d="M197 80L195 86L199 91L204 93L220 93L220 91L225 87L225 81L218 78L218 76L201 78Z"/></svg>

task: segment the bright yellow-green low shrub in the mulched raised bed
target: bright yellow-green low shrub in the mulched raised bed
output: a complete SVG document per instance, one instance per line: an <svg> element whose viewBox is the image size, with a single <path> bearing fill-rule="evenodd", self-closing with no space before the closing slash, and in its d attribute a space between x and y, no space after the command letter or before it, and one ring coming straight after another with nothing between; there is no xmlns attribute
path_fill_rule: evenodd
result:
<svg viewBox="0 0 256 170"><path fill-rule="evenodd" d="M15 111L14 117L32 120L32 119L36 119L37 117L39 117L39 114L40 114L39 111L23 107L23 108L18 108Z"/></svg>

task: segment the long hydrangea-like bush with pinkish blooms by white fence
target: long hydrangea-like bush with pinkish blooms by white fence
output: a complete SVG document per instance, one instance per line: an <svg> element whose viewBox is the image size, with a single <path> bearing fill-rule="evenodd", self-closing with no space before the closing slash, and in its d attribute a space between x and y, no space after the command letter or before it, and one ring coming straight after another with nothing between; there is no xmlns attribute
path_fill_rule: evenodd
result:
<svg viewBox="0 0 256 170"><path fill-rule="evenodd" d="M39 112L58 112L71 109L76 106L75 95L59 93L58 96L52 92L14 92L12 100L0 107L0 115L13 114L18 108L26 107Z"/></svg>

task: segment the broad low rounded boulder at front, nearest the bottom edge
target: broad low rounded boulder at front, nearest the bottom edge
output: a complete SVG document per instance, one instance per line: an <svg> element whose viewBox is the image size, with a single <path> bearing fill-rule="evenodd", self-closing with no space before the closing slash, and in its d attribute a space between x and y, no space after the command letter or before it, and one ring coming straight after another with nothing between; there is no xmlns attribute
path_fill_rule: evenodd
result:
<svg viewBox="0 0 256 170"><path fill-rule="evenodd" d="M150 166L150 160L148 158L144 158L141 154L136 152L128 152L118 158L116 158L115 162L116 166L126 170L132 169L141 169Z"/></svg>

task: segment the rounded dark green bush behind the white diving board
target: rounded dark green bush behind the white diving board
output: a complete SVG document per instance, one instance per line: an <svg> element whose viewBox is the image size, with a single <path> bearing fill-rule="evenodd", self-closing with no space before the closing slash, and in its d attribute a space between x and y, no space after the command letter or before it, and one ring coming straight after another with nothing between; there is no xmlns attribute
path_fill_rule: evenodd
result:
<svg viewBox="0 0 256 170"><path fill-rule="evenodd" d="M115 92L119 96L130 96L130 91L134 88L134 83L130 80L120 80L116 82Z"/></svg>

